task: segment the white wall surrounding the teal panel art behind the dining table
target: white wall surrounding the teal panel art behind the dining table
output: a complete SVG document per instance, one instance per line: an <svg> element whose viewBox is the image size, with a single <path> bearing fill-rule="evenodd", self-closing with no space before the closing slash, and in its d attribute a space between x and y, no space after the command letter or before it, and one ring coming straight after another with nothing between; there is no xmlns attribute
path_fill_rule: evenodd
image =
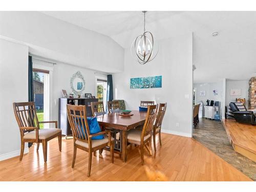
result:
<svg viewBox="0 0 256 192"><path fill-rule="evenodd" d="M130 89L130 78L155 75L162 75L162 88ZM159 55L146 65L137 63L125 49L124 72L113 75L114 98L124 99L130 110L138 110L140 100L167 102L163 132L191 137L192 76L192 34L159 41Z"/></svg>

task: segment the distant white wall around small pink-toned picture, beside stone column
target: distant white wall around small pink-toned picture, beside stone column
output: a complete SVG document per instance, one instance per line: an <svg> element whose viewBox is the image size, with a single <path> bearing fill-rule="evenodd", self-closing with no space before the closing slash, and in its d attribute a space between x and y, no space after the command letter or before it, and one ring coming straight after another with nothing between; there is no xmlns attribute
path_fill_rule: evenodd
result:
<svg viewBox="0 0 256 192"><path fill-rule="evenodd" d="M230 89L241 89L241 95L231 96ZM226 105L229 105L232 101L236 101L236 98L245 98L246 107L248 108L248 89L249 80L226 81Z"/></svg>

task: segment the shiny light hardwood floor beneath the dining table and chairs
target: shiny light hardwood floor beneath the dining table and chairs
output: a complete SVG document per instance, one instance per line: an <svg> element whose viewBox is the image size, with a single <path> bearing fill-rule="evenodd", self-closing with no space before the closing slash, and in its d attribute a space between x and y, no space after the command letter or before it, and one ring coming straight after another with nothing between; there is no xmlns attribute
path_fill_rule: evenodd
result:
<svg viewBox="0 0 256 192"><path fill-rule="evenodd" d="M44 163L42 148L36 145L19 157L0 162L1 181L251 181L223 159L209 151L193 138L162 134L162 147L157 140L157 153L150 157L144 153L141 165L139 148L127 151L124 163L115 155L110 163L110 153L93 157L91 177L87 177L88 153L77 150L75 167L71 168L73 140L58 140L48 144L48 161Z"/></svg>

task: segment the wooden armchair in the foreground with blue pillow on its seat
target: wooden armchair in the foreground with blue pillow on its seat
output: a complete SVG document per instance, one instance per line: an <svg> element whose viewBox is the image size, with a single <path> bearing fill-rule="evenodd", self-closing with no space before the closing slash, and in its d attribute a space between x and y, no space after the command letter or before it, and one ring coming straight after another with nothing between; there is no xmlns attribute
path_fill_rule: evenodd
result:
<svg viewBox="0 0 256 192"><path fill-rule="evenodd" d="M84 105L70 105L67 104L68 119L73 135L73 162L72 168L74 168L76 160L77 148L89 153L88 174L91 175L92 168L92 153L97 150L103 149L106 146L110 147L111 162L114 162L114 139L111 137L110 131L105 130L96 134L91 134L87 117L86 106ZM104 135L103 139L93 140L92 137Z"/></svg>

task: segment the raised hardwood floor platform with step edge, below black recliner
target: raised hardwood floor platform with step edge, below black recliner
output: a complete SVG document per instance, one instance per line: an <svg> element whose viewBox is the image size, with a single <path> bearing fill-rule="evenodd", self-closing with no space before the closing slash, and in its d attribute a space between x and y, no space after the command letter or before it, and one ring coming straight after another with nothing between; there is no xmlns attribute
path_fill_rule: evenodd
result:
<svg viewBox="0 0 256 192"><path fill-rule="evenodd" d="M256 162L256 126L225 119L223 125L234 151Z"/></svg>

